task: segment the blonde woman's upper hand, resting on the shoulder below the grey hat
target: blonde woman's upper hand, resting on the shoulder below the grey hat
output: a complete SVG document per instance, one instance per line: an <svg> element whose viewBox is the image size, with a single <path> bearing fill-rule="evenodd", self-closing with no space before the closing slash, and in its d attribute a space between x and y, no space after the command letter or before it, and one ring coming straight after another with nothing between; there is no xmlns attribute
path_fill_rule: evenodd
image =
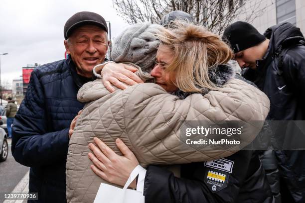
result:
<svg viewBox="0 0 305 203"><path fill-rule="evenodd" d="M135 85L138 83L144 83L135 72L137 68L122 63L107 63L101 71L103 76L103 84L109 92L114 92L115 89L111 86L113 84L117 88L125 90L127 85ZM125 83L125 84L124 84Z"/></svg>

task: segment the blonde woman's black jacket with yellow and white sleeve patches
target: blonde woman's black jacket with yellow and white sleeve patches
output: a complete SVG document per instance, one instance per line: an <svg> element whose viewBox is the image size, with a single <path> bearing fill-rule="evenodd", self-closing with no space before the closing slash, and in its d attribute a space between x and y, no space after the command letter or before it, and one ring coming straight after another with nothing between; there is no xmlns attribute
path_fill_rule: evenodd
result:
<svg viewBox="0 0 305 203"><path fill-rule="evenodd" d="M261 162L252 151L239 151L214 160L232 166L231 172L210 162L181 165L181 178L157 166L147 168L145 203L271 203L270 186ZM223 162L224 161L224 162ZM213 180L213 174L218 179Z"/></svg>

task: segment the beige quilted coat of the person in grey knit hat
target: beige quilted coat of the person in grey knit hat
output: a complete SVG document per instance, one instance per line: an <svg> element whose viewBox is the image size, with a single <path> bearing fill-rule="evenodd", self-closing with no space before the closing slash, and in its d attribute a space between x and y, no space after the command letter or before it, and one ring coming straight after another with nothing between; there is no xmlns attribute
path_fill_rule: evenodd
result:
<svg viewBox="0 0 305 203"><path fill-rule="evenodd" d="M139 67L138 67L139 68ZM140 75L141 76L141 75ZM142 77L143 78L143 77ZM196 150L180 140L184 120L265 120L269 100L255 87L230 79L219 91L191 94L181 100L152 83L108 92L101 79L85 84L78 100L87 102L70 139L66 174L67 202L92 203L101 182L90 169L88 144L102 139L121 154L115 139L135 153L140 164L170 165L227 157L240 150ZM262 126L247 125L242 137L251 142Z"/></svg>

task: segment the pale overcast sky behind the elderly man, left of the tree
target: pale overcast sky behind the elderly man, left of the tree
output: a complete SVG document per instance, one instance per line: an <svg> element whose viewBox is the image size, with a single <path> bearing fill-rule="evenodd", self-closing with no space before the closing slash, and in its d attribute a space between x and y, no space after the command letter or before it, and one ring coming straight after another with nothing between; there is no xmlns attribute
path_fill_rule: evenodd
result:
<svg viewBox="0 0 305 203"><path fill-rule="evenodd" d="M64 59L63 27L79 11L92 11L111 22L112 38L128 24L111 0L0 0L1 79L11 83L27 64Z"/></svg>

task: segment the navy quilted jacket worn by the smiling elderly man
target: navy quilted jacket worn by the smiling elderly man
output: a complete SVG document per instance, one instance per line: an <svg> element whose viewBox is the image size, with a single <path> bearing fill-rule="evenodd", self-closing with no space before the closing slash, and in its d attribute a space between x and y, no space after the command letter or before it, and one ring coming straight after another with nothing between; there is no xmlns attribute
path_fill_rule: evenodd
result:
<svg viewBox="0 0 305 203"><path fill-rule="evenodd" d="M68 131L83 104L82 86L70 57L36 68L12 128L12 155L30 167L29 192L41 203L66 202ZM37 203L38 201L35 201Z"/></svg>

